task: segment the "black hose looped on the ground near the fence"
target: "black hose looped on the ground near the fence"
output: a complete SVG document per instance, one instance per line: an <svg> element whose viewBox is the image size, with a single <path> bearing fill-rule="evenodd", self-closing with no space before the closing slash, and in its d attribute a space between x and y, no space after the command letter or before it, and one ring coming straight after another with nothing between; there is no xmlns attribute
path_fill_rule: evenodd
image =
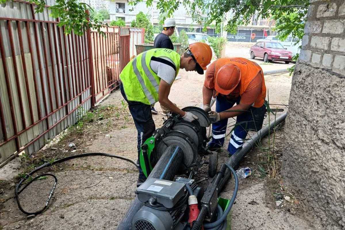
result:
<svg viewBox="0 0 345 230"><path fill-rule="evenodd" d="M82 154L78 154L78 155L73 155L73 156L69 156L69 157L65 157L65 158L61 158L61 159L58 159L58 160L55 160L53 161L52 163L50 162L46 162L44 164L42 164L41 166L38 166L37 168L35 168L34 170L32 170L31 172L29 172L28 174L26 174L26 176L24 178L22 178L18 184L16 185L16 188L14 189L14 196L16 197L16 200L17 200L17 204L18 204L18 208L20 209L20 211L22 211L24 214L27 214L27 215L37 215L39 213L42 213L44 210L46 210L46 208L48 207L48 204L50 202L50 199L52 198L53 194L54 194L54 191L55 191L55 188L56 188L56 184L58 183L58 179L57 177L54 175L54 174L51 174L51 173L43 173L43 174L40 174L36 177L34 177L32 180L30 180L27 184L25 184L22 188L22 183L26 180L28 180L32 174L34 174L35 172L41 170L42 168L45 168L45 167L48 167L48 166L52 166L54 164L57 164L57 163L61 163L61 162L64 162L64 161L68 161L68 160L71 160L71 159L75 159L75 158L80 158L80 157L90 157L90 156L105 156L105 157L113 157L113 158L118 158L118 159L122 159L122 160L126 160L132 164L134 164L136 167L139 167L138 164L129 159L129 158L126 158L126 157L123 157L123 156L119 156L119 155L114 155L114 154L109 154L109 153L101 153L101 152L91 152L91 153L82 153ZM39 211L36 211L36 212L28 212L28 211L25 211L20 202L19 202L19 194L24 190L26 189L33 181L36 181L38 179L40 179L41 177L43 176L51 176L54 178L55 182L54 182L54 185L53 187L51 188L50 190L50 193L49 193L49 197L47 198L47 201L46 201L46 204L45 204L45 207L43 207L41 210Z"/></svg>

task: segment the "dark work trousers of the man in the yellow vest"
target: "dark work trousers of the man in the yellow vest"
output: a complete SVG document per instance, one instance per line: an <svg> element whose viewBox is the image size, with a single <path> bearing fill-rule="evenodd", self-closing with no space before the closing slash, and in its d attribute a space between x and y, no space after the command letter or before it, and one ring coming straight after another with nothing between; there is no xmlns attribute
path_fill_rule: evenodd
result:
<svg viewBox="0 0 345 230"><path fill-rule="evenodd" d="M129 112L134 120L135 127L138 131L138 160L140 156L141 145L152 136L152 133L156 130L155 122L152 119L151 106L138 101L128 101L122 83L120 84L120 91L122 97L127 101ZM145 174L142 172L139 164L139 178L146 179Z"/></svg>

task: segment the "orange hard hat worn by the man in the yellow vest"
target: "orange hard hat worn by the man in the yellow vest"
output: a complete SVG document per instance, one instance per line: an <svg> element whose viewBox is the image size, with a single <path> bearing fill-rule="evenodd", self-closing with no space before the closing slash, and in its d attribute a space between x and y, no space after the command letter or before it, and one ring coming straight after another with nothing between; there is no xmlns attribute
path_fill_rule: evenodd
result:
<svg viewBox="0 0 345 230"><path fill-rule="evenodd" d="M195 58L197 72L204 74L204 70L212 59L211 47L204 42L194 42L189 45L186 52Z"/></svg>

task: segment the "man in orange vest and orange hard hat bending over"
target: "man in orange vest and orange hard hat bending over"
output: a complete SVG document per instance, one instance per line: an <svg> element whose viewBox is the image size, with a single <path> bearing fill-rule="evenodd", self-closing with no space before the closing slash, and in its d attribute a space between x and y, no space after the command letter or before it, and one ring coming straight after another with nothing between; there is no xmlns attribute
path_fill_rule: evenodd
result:
<svg viewBox="0 0 345 230"><path fill-rule="evenodd" d="M216 111L210 108L213 95L216 95ZM264 74L256 62L245 58L220 58L210 64L203 87L204 110L213 120L210 150L223 147L228 118L233 117L236 117L236 124L230 127L230 156L242 147L249 130L262 128L265 98Z"/></svg>

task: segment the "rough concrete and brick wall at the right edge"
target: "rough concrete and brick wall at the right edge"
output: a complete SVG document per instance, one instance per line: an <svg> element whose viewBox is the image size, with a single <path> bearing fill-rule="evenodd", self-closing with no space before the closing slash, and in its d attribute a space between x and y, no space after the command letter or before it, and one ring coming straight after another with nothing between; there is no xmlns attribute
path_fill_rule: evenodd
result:
<svg viewBox="0 0 345 230"><path fill-rule="evenodd" d="M311 0L285 125L284 182L345 229L345 2Z"/></svg>

